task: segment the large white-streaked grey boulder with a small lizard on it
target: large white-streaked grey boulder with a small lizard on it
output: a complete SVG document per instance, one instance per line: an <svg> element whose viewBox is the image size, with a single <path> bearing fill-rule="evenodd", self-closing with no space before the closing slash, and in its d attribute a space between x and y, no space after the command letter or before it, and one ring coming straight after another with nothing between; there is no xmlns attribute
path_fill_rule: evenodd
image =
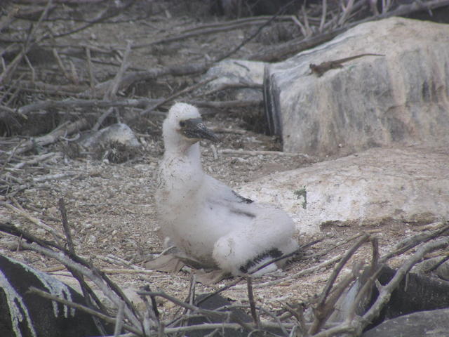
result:
<svg viewBox="0 0 449 337"><path fill-rule="evenodd" d="M309 65L365 56L311 74ZM283 150L325 157L389 145L449 143L449 25L389 18L349 29L273 65L267 115Z"/></svg>

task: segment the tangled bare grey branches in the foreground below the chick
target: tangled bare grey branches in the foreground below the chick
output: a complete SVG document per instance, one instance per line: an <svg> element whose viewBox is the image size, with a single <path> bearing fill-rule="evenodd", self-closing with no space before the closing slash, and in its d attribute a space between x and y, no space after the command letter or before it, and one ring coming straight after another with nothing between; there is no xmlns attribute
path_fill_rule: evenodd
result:
<svg viewBox="0 0 449 337"><path fill-rule="evenodd" d="M72 272L72 275L79 281L90 305L87 308L39 289L31 289L32 292L78 310L86 311L107 324L114 324L116 331L114 336L119 336L122 329L130 334L121 336L165 336L205 330L208 333L218 333L219 335L224 333L225 330L231 330L245 331L245 333L269 333L270 336L330 337L341 336L342 333L347 333L347 336L361 336L363 329L380 315L381 310L388 304L391 294L412 267L419 263L427 254L447 249L449 246L448 223L436 223L428 226L429 230L404 239L403 242L398 243L394 250L383 256L380 256L377 239L373 234L360 234L351 238L353 240L356 239L356 242L350 249L331 261L332 263L338 262L318 298L311 300L309 303L303 303L303 305L297 308L286 304L281 312L269 312L269 310L257 305L253 294L252 278L248 275L247 277L239 277L234 282L218 289L214 293L209 293L207 296L196 296L196 278L192 277L189 295L185 300L169 296L163 291L151 291L150 285L144 286L138 293L147 304L147 310L140 312L134 307L120 287L114 284L105 273L100 272L95 266L76 254L72 237L69 234L69 224L63 199L60 199L60 211L65 238L52 228L45 229L51 233L53 241L34 237L26 230L15 227L11 223L1 223L0 230L19 237L22 249L35 251L48 258L58 260L62 265L65 265L67 270ZM354 260L354 254L364 244L372 246L370 263L366 264L360 260L355 260L352 271L347 273L347 275L341 276L340 273L345 265L347 265L349 260ZM68 249L65 248L66 246ZM401 267L394 273L394 277L383 286L377 284L379 295L372 304L367 306L366 302L372 296L376 279L382 272L384 265L391 258L408 254L410 251L415 251L415 253L404 260ZM313 256L305 256L305 258L311 257ZM447 256L443 257L441 262L445 260L447 260ZM322 265L323 263L316 267L321 267ZM316 270L316 267L309 268L310 270L302 270L301 274L312 272ZM339 275L340 280L337 282ZM290 275L289 277L295 277L295 275ZM95 284L97 289L113 303L113 308L106 308L86 281ZM230 305L230 303L223 305L220 300L214 297L226 289L232 289L241 281L246 281L249 305ZM283 281L284 279L280 279L276 282ZM358 290L351 297L349 310L341 312L341 308L337 308L336 303L340 298L348 296L347 291L354 286L354 282ZM258 286L261 286L261 284ZM181 311L183 310L182 314L178 314L175 319L170 319L170 321L161 320L156 304L156 298L158 297L166 298L166 300L173 302ZM210 298L218 304L213 305L212 309L203 308L201 303ZM251 318L246 319L245 314L243 314L242 319L242 314L237 315L238 311L236 309L249 310ZM309 312L307 319L304 318L304 312ZM332 315L340 317L337 322L328 322ZM195 321L192 321L192 319L199 319L199 321L196 321L195 324ZM107 331L104 326L102 330Z"/></svg>

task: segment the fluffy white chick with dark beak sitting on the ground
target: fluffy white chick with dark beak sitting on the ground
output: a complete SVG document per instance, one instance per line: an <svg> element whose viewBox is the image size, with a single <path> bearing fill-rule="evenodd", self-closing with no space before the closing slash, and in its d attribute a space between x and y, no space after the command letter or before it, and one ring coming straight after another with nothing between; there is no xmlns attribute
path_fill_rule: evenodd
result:
<svg viewBox="0 0 449 337"><path fill-rule="evenodd" d="M203 267L220 267L232 275L276 270L285 261L257 269L297 249L293 220L204 173L201 139L217 141L196 107L173 105L163 122L165 152L156 191L163 234Z"/></svg>

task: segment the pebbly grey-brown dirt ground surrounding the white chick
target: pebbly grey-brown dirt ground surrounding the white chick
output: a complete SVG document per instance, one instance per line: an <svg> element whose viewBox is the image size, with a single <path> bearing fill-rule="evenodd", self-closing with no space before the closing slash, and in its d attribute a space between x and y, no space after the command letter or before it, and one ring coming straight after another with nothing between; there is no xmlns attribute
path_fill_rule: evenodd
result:
<svg viewBox="0 0 449 337"><path fill-rule="evenodd" d="M117 50L123 51L128 39L133 40L134 44L145 44L161 37L179 34L188 27L200 23L225 20L225 18L208 14L206 10L196 10L196 5L190 4L189 1L180 1L177 6L166 6L164 2L154 1L153 8L146 8L145 4L149 3L142 1L141 4L133 6L129 12L123 13L123 20L119 23L93 25L65 39L58 39L58 43L90 44L99 48L114 46ZM168 1L168 4L173 5L173 1L171 3ZM81 8L72 8L70 11L85 14ZM131 20L145 11L153 11L156 14L150 15L145 20ZM74 26L75 21L58 21L56 25ZM138 48L131 53L130 63L133 69L144 70L148 67L207 60L238 45L249 34L250 29L252 28L248 27L176 41L172 44ZM294 34L293 30L291 32ZM252 41L233 55L233 58L244 58L251 51L263 48L264 43L266 42L263 39ZM78 61L79 63L76 63L76 60L74 62L80 74L83 74L81 60ZM98 71L100 74L100 70ZM117 67L104 66L101 74L104 76L103 79L107 79L116 71ZM83 77L86 78L86 76L84 73ZM102 78L98 77L98 81L100 80ZM62 83L66 80L55 75L55 81ZM133 93L124 94L128 97L147 95L147 97L156 98L192 83L193 79L188 77L160 79L151 83L138 84L133 87ZM26 98L28 101L35 99L38 97ZM215 145L216 150L281 150L279 140L255 132L257 130L254 125L262 123L262 111L257 107L229 110L205 109L202 112L205 113L204 119L208 126L221 130L228 129L226 132L218 133L221 141ZM67 154L67 141L62 140L41 150L41 154L55 152L51 159L36 166L27 167L18 173L25 181L48 174L73 173L72 176L65 178L34 183L34 187L15 194L15 200L35 218L61 230L58 199L64 197L77 253L103 270L109 270L112 280L136 301L138 296L133 296L133 291L147 284L152 290L160 289L183 299L187 296L191 279L188 270L173 274L157 271L129 272L136 266L143 267L145 261L156 256L162 249L161 240L157 236L159 223L154 209L155 173L158 161L163 154L162 120L161 117L151 116L143 124L130 124L138 133L142 152L138 157L123 164L114 164L88 154L71 156ZM3 140L6 142L7 138ZM220 154L215 158L210 143L203 143L202 153L205 171L232 187L238 187L275 171L311 165L314 161L313 159L305 160L302 157L277 155ZM29 156L31 158L32 154ZM0 196L0 201L6 201L6 198ZM1 220L11 220L13 224L30 230L38 237L51 239L44 230L39 229L26 218L18 216L4 204L0 204L0 214ZM301 227L301 224L298 224L298 227ZM349 238L367 230L379 237L382 254L391 250L404 237L420 232L422 227L386 220L384 223L363 228L355 225L328 224L322 227L322 232L316 237L298 233L297 238L302 244L321 239L321 242L304 251L307 256L329 251L323 256L297 259L290 263L286 270L276 275L256 279L257 304L273 312L279 312L285 303L296 305L302 302L313 302L316 294L326 283L333 264L304 276L285 280L283 278L337 256L354 242L354 240L348 242ZM332 247L334 249L331 249ZM0 252L24 260L39 270L51 271L52 275L60 277L67 275L67 272L54 260L29 251L21 251L16 239L6 234L0 234ZM370 247L366 246L356 253L353 260L369 260L369 258ZM398 258L393 261L393 264L400 261L401 258ZM344 272L348 272L350 267L351 263ZM121 270L125 271L121 272ZM69 280L69 277L65 277L65 280ZM278 281L274 282L276 284L264 286L265 282L275 280ZM213 291L229 282L232 280L227 279L213 286L197 284L196 292ZM73 283L73 280L70 283ZM237 303L248 303L246 285L234 286L224 294L236 300ZM173 315L172 303L161 300L160 306L161 312L166 315L165 318Z"/></svg>

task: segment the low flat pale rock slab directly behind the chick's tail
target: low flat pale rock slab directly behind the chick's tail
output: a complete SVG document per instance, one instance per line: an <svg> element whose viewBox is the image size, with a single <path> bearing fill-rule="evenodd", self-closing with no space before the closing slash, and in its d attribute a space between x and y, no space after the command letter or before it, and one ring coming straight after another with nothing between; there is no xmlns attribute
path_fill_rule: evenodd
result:
<svg viewBox="0 0 449 337"><path fill-rule="evenodd" d="M449 218L449 150L376 148L272 173L238 192L286 210L309 234L329 222L443 220Z"/></svg>

